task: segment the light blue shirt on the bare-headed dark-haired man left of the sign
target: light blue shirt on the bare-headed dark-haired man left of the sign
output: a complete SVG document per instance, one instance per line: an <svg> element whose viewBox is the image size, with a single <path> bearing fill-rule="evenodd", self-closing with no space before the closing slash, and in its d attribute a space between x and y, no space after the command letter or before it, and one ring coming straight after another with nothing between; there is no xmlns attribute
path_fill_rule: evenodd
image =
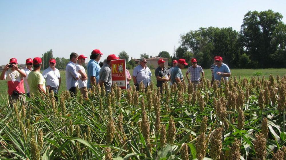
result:
<svg viewBox="0 0 286 160"><path fill-rule="evenodd" d="M67 90L71 89L72 87L78 86L78 80L80 74L76 71L76 64L72 61L67 63L65 67L65 83L67 86Z"/></svg>

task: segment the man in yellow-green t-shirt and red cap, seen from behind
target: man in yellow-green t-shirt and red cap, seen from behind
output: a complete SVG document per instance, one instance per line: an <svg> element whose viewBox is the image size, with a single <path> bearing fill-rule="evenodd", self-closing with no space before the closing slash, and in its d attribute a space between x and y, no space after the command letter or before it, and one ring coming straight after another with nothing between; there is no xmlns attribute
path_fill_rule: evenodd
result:
<svg viewBox="0 0 286 160"><path fill-rule="evenodd" d="M35 96L39 96L40 94L46 93L45 87L45 79L43 75L40 73L42 66L42 59L39 57L35 57L33 59L33 70L28 75L28 84L30 87L30 95L34 94Z"/></svg>

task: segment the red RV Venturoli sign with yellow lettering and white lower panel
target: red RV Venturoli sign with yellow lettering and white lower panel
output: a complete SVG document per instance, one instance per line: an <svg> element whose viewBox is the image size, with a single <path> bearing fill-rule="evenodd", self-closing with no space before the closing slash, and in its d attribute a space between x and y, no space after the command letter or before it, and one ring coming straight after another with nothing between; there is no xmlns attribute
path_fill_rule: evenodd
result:
<svg viewBox="0 0 286 160"><path fill-rule="evenodd" d="M112 85L114 85L114 83L117 83L117 86L121 89L127 89L125 59L112 60L110 66Z"/></svg>

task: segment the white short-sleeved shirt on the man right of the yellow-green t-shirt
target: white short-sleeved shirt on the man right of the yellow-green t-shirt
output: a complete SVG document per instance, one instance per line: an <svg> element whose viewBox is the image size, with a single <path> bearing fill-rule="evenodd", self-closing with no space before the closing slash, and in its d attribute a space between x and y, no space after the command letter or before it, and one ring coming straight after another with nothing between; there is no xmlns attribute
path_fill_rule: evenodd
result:
<svg viewBox="0 0 286 160"><path fill-rule="evenodd" d="M42 75L46 80L46 86L49 85L56 89L59 87L59 78L61 78L61 75L58 69L55 68L53 70L51 67L48 67L43 71Z"/></svg>

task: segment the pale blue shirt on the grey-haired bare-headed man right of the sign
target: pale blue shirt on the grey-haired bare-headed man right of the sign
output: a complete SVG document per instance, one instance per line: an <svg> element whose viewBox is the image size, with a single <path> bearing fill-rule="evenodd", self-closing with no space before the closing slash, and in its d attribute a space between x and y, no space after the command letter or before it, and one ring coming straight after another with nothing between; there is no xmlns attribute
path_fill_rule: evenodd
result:
<svg viewBox="0 0 286 160"><path fill-rule="evenodd" d="M142 67L142 65L137 65L137 67L135 67L133 69L133 73L132 75L134 77L136 77L137 83L140 84L141 81L144 83L145 87L147 87L147 85L150 85L151 83L151 76L152 73L150 71L150 69L147 67L145 67L145 69Z"/></svg>

